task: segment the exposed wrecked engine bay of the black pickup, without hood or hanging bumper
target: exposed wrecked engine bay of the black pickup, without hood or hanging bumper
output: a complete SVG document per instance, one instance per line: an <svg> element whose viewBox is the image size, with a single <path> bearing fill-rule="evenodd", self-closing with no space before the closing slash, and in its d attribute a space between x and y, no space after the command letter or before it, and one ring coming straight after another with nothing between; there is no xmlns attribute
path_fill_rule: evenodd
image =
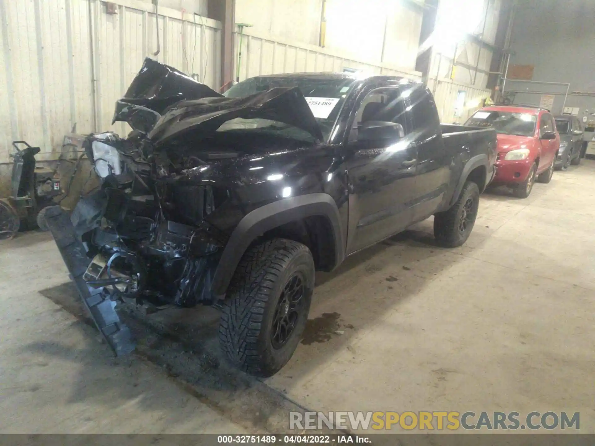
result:
<svg viewBox="0 0 595 446"><path fill-rule="evenodd" d="M177 160L177 169L171 162L154 165L127 150L130 140L108 136L87 140L104 182L71 215L93 257L87 284L104 287L112 299L155 307L212 303L210 282L226 243L226 236L204 221L214 209L212 188L168 181L202 161L187 156Z"/></svg>

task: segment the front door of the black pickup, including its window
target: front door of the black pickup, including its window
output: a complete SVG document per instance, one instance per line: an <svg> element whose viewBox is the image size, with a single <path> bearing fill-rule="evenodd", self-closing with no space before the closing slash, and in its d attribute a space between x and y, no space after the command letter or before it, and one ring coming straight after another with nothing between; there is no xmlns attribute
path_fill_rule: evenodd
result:
<svg viewBox="0 0 595 446"><path fill-rule="evenodd" d="M356 102L344 147L349 185L348 254L411 224L417 149L407 137L411 126L405 108L397 86L364 90ZM382 127L383 123L399 124L400 135L369 139L366 127ZM390 129L390 124L386 128Z"/></svg>

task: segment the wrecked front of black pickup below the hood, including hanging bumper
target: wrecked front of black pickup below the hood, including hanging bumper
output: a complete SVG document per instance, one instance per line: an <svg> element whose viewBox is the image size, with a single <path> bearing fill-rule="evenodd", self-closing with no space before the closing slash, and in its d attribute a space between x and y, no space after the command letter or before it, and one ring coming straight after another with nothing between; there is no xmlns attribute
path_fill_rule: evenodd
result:
<svg viewBox="0 0 595 446"><path fill-rule="evenodd" d="M88 137L87 150L97 154L93 145L104 141ZM127 155L126 140L109 145L113 153L102 147L105 158L93 158L97 174L107 173L101 187L70 215L54 206L45 219L84 305L120 355L134 344L115 312L117 301L148 310L212 304L211 281L226 237L204 220L214 209L210 186L184 188L187 208L181 209L171 178L157 178L155 164ZM118 173L115 154L129 158Z"/></svg>

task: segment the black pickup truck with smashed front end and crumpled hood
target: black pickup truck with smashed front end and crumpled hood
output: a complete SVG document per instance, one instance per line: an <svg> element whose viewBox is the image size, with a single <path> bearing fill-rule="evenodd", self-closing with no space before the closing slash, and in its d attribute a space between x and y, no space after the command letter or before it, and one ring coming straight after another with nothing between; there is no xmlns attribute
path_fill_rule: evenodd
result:
<svg viewBox="0 0 595 446"><path fill-rule="evenodd" d="M496 133L441 125L418 81L280 74L223 96L146 59L114 121L84 143L102 186L49 230L116 354L134 348L117 301L221 308L221 347L270 376L299 343L314 271L434 215L461 246L493 176Z"/></svg>

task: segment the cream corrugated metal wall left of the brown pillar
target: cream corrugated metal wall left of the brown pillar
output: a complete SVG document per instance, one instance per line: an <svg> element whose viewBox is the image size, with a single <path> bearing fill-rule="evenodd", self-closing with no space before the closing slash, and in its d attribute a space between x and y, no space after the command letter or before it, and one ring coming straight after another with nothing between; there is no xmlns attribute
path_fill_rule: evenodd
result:
<svg viewBox="0 0 595 446"><path fill-rule="evenodd" d="M173 65L215 89L220 85L221 24L195 14L114 0L0 0L0 162L12 140L42 147L55 159L62 138L115 130L115 100L145 56ZM95 93L93 93L95 83Z"/></svg>

